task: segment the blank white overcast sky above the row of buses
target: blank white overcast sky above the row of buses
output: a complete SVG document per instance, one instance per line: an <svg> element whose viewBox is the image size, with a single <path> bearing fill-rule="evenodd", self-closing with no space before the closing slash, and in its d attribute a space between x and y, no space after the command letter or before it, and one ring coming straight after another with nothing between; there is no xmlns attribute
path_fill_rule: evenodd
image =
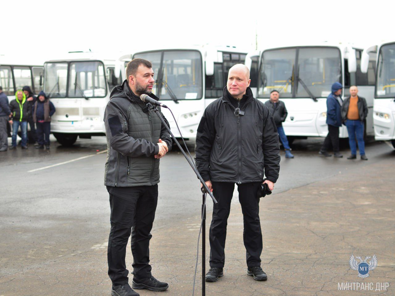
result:
<svg viewBox="0 0 395 296"><path fill-rule="evenodd" d="M393 1L11 1L1 4L0 54L134 52L177 44L241 49L282 42L372 45L393 34ZM250 4L251 6L247 6ZM50 56L51 55L51 56Z"/></svg>

